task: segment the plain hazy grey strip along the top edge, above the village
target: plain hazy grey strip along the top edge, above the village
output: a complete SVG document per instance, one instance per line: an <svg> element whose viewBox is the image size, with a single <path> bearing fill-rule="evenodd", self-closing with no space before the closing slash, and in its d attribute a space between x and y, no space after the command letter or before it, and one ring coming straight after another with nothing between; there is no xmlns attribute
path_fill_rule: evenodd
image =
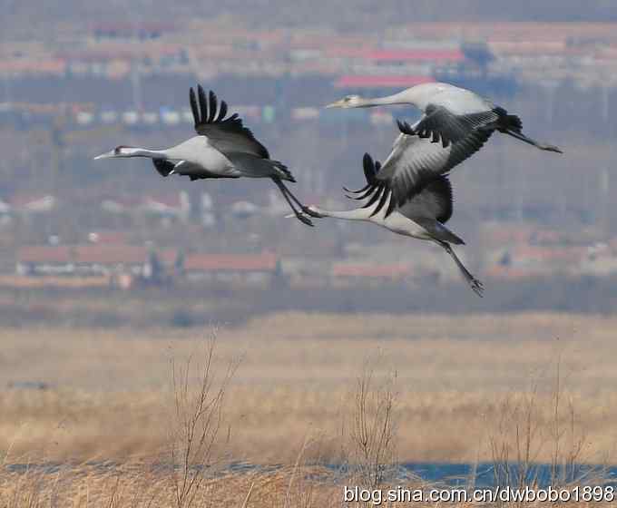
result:
<svg viewBox="0 0 617 508"><path fill-rule="evenodd" d="M12 34L44 34L48 23L83 25L95 21L168 21L228 15L263 26L330 25L348 30L413 21L615 21L614 0L64 0L57 3L3 0L3 15Z"/></svg>

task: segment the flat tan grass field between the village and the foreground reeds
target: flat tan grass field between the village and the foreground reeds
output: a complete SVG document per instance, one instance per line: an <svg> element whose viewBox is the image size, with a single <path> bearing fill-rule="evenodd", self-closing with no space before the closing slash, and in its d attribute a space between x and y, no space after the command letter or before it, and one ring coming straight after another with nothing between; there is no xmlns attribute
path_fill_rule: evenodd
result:
<svg viewBox="0 0 617 508"><path fill-rule="evenodd" d="M615 444L616 325L612 318L544 314L257 319L219 333L221 362L243 356L221 428L230 453L250 461L292 462L307 433L329 436L320 454L335 456L340 422L351 413L349 390L367 355L380 349L375 375L397 372L398 458L490 460L486 428L498 424L504 396L520 399L534 385L538 417L552 418L548 380L560 355L563 388L579 407L595 461ZM52 386L1 392L0 450L12 445L17 456L43 450L63 460L158 453L172 416L171 358L188 357L202 339L190 334L0 331L0 386ZM536 458L550 461L551 452Z"/></svg>

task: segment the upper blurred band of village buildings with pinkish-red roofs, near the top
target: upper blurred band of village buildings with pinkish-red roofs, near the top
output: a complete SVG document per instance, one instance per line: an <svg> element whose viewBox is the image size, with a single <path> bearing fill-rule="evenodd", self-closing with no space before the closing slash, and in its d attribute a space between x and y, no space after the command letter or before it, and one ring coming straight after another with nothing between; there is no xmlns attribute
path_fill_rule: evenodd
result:
<svg viewBox="0 0 617 508"><path fill-rule="evenodd" d="M58 47L5 42L0 47L0 122L26 122L63 114L91 124L176 125L192 122L188 106L162 103L149 110L140 80L149 75L317 76L343 93L406 88L446 80L488 83L493 90L516 83L547 88L564 81L580 87L617 85L617 35L613 24L417 23L380 34L345 35L326 29L261 32L194 21L188 34L176 24L92 24L86 34L65 34ZM191 35L191 36L188 36ZM194 36L193 36L194 35ZM72 40L74 38L74 41ZM70 49L69 49L70 48ZM131 107L119 111L93 103L22 103L11 100L13 79L86 77L130 80ZM484 85L485 86L485 85ZM271 121L271 105L238 104L250 121ZM320 110L299 107L294 120L312 120ZM369 113L367 113L369 114Z"/></svg>

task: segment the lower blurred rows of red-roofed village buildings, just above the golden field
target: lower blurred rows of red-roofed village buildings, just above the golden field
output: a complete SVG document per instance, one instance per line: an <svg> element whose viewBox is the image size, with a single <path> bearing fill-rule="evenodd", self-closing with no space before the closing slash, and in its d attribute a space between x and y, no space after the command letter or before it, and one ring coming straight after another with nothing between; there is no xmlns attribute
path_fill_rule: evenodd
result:
<svg viewBox="0 0 617 508"><path fill-rule="evenodd" d="M53 196L0 203L0 222L40 220L54 210ZM103 200L109 214L149 217L161 225L186 227L191 202L186 192L178 196L138 200ZM231 205L237 219L280 213L279 206L259 209L249 202ZM216 215L208 194L201 197L201 227L216 229ZM487 223L481 233L487 248L483 262L486 278L517 280L560 274L569 277L602 277L617 274L617 239L609 242L573 241L555 230L504 222ZM91 231L77 244L50 237L45 244L24 245L16 252L15 272L0 275L0 287L16 288L120 288L144 285L191 285L212 287L348 287L353 285L416 284L426 278L455 280L458 274L434 256L417 254L413 261L384 262L355 255L331 257L316 263L298 256L260 250L249 253L212 253L137 245L122 230Z"/></svg>

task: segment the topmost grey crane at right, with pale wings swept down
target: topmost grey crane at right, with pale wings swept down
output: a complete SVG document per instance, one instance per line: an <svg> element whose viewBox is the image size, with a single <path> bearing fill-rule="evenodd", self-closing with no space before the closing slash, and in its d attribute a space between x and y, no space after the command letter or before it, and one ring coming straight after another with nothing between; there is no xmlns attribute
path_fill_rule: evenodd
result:
<svg viewBox="0 0 617 508"><path fill-rule="evenodd" d="M364 108L388 104L407 104L423 112L413 125L398 121L401 135L377 180L388 181L397 204L410 192L422 189L438 175L480 150L493 132L504 132L544 151L562 151L551 144L536 142L522 132L521 119L479 95L448 83L423 83L400 93L376 99L348 95L327 108ZM413 137L427 139L418 145ZM409 151L410 144L414 150Z"/></svg>

